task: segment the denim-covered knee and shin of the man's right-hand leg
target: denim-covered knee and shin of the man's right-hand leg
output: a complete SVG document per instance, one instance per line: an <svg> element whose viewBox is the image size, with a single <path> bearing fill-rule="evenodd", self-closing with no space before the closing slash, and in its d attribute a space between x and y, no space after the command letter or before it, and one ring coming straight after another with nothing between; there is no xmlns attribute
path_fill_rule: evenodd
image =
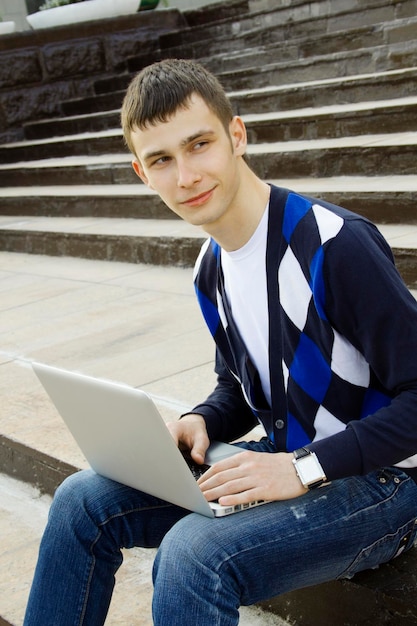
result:
<svg viewBox="0 0 417 626"><path fill-rule="evenodd" d="M166 534L157 553L152 603L156 626L235 626L240 585L215 520L191 514Z"/></svg>

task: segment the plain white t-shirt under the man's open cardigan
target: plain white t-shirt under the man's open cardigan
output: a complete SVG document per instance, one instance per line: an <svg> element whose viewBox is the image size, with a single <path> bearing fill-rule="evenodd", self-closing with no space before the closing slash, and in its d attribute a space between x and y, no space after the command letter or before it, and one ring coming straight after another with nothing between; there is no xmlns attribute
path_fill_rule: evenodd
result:
<svg viewBox="0 0 417 626"><path fill-rule="evenodd" d="M233 319L259 372L265 397L271 404L266 287L268 206L269 203L249 241L233 252L225 252L222 249L221 262L224 286Z"/></svg>

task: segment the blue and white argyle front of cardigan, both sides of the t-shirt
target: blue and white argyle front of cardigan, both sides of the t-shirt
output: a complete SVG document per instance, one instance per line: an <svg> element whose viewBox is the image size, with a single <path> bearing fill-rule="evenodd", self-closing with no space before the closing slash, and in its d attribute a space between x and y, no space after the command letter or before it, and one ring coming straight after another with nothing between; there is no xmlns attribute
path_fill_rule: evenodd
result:
<svg viewBox="0 0 417 626"><path fill-rule="evenodd" d="M267 411L261 416L249 405L277 448L291 451L344 430L350 421L387 406L391 398L381 390L364 356L326 316L329 246L345 226L346 211L293 192L281 206L276 202L274 210L282 211L283 219L282 232L280 219L273 220L276 232L270 232L282 250L268 269L268 277L274 272L279 287L275 313L279 345L270 338L270 354L280 354L282 360L280 356L278 362L272 361L270 369L277 381L282 378L275 372L282 368L284 387L272 387L271 393L273 404L274 396L278 398L278 422L285 427L276 426L277 416L271 411L269 416ZM243 342L233 341L230 312L229 323L224 314L228 305L222 296L220 258L219 246L208 240L196 262L196 293L210 332L232 375L240 381L244 397L256 398L256 389L252 389L255 378L247 376L244 365L249 357Z"/></svg>

